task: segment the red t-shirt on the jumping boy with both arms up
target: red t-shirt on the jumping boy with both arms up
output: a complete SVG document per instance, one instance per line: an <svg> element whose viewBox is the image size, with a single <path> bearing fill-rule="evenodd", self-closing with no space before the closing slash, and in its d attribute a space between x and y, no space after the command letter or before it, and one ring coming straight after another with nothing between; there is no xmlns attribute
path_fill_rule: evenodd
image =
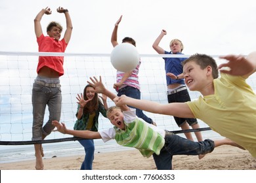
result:
<svg viewBox="0 0 256 183"><path fill-rule="evenodd" d="M39 52L65 52L68 44L64 39L55 41L53 37L44 36L37 37ZM44 66L53 69L59 73L59 76L64 75L63 69L64 57L63 56L39 56L37 65L37 73Z"/></svg>

